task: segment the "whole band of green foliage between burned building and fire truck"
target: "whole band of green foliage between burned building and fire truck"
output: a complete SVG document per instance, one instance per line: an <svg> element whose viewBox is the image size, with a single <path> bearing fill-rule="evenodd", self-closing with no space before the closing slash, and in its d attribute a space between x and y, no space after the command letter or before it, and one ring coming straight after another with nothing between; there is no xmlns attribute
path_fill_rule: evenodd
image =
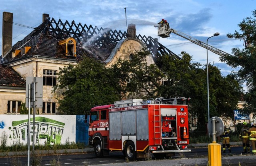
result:
<svg viewBox="0 0 256 166"><path fill-rule="evenodd" d="M192 56L181 52L177 56L156 57L150 62L150 52L142 50L131 54L129 60L117 60L111 68L105 68L92 58L84 57L77 66L66 66L58 73L58 85L62 90L58 111L65 114L85 114L95 105L106 105L123 98L174 98L190 97L190 115L199 124L208 121L206 68L192 63ZM164 84L162 84L162 81ZM222 76L220 70L209 65L210 117L232 117L242 87L236 76Z"/></svg>

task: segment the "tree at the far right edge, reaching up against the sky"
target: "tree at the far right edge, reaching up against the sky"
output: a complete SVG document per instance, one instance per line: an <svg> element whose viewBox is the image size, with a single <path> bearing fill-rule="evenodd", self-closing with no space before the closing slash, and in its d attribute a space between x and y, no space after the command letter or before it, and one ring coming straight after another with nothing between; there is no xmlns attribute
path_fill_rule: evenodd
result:
<svg viewBox="0 0 256 166"><path fill-rule="evenodd" d="M227 34L228 38L244 40L245 48L233 48L232 54L220 58L233 68L238 68L235 73L238 81L246 82L248 91L243 98L246 101L244 109L245 114L253 113L256 115L256 10L252 11L253 17L246 17L238 24L240 32Z"/></svg>

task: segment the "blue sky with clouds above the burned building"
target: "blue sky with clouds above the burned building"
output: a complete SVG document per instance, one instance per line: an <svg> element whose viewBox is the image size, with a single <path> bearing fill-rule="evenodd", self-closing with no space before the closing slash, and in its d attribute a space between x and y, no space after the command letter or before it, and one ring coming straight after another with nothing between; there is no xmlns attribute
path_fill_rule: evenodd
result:
<svg viewBox="0 0 256 166"><path fill-rule="evenodd" d="M36 27L42 22L42 14L51 18L68 20L87 25L116 30L126 30L125 10L128 24L136 24L137 34L158 38L172 52L186 51L194 62L206 64L206 49L171 34L169 38L157 36L154 27L162 18L171 28L206 43L215 32L220 36L210 38L208 44L231 54L235 47L243 48L243 41L230 40L228 33L239 31L243 18L252 16L256 0L1 0L0 12L12 12L13 22ZM13 25L15 44L32 29ZM2 52L2 16L0 17L0 52ZM219 62L219 56L208 51L208 60L221 69L225 76L234 70Z"/></svg>

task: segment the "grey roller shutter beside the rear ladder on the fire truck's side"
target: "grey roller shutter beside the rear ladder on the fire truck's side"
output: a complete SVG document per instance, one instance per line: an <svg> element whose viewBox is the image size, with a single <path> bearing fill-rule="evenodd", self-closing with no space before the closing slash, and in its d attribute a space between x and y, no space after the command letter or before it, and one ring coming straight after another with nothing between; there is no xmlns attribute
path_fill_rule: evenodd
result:
<svg viewBox="0 0 256 166"><path fill-rule="evenodd" d="M136 140L148 140L148 110L136 112L137 138Z"/></svg>

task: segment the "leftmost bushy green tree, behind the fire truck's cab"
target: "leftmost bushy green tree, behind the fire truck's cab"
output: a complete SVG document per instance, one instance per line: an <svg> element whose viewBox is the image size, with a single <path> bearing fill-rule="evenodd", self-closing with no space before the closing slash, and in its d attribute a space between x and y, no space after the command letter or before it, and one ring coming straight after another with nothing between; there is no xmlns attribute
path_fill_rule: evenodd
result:
<svg viewBox="0 0 256 166"><path fill-rule="evenodd" d="M58 111L64 114L85 114L95 105L106 105L120 100L120 84L112 69L86 56L76 66L60 68L58 85L62 89Z"/></svg>

